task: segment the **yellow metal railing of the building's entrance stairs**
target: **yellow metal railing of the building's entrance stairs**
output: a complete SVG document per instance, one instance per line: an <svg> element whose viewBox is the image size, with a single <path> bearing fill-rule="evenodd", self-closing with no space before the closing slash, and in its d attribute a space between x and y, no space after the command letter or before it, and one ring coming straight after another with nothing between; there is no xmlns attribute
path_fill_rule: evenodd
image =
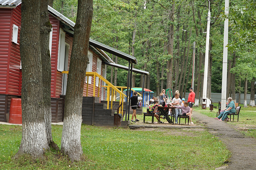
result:
<svg viewBox="0 0 256 170"><path fill-rule="evenodd" d="M68 74L68 71L62 71L62 74ZM120 94L120 100L119 100L119 104L122 103L122 107L119 108L119 110L121 109L121 114L123 114L123 107L124 107L124 96L126 97L126 95L120 91L118 88L116 88L112 83L110 83L107 79L105 79L103 76L101 76L100 74L96 73L96 72L86 72L85 76L87 77L87 89L86 89L86 96L88 96L88 80L89 77L92 76L94 77L94 81L93 81L93 96L95 97L95 86L96 86L96 77L98 77L98 97L99 97L99 88L100 88L100 82L101 80L103 82L105 82L107 85L106 86L102 86L102 87L106 87L107 88L107 109L109 109L109 99L110 99L110 88L112 88L112 100L111 100L111 105L110 105L110 109L113 108L113 93L116 94L119 93Z"/></svg>

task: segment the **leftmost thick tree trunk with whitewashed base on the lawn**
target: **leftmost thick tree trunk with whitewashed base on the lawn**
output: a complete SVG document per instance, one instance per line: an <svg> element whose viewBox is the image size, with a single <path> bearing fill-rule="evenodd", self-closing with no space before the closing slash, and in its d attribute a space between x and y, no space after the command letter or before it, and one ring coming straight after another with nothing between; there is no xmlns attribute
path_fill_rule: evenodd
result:
<svg viewBox="0 0 256 170"><path fill-rule="evenodd" d="M15 157L25 153L35 158L41 157L49 148L42 102L40 6L40 1L28 0L23 0L21 5L22 139Z"/></svg>

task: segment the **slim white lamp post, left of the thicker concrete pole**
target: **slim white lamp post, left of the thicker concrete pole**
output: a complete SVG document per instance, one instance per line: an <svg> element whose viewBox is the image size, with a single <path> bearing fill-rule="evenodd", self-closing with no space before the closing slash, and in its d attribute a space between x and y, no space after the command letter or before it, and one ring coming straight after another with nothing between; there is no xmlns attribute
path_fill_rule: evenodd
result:
<svg viewBox="0 0 256 170"><path fill-rule="evenodd" d="M208 59L209 59L209 37L210 37L210 20L211 20L210 1L208 0L208 2L209 2L209 11L208 11L208 17L207 17L207 31L206 31L206 45L205 45L205 72L204 72L205 74L203 76L203 98L202 98L203 102L207 101L206 91L207 91ZM203 102L202 102L202 104L203 104Z"/></svg>

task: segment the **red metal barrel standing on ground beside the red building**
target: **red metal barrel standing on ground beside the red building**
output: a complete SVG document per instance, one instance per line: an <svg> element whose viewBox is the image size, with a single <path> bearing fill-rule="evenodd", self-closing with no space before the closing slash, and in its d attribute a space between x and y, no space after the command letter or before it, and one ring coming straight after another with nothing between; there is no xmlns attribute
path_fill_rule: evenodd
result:
<svg viewBox="0 0 256 170"><path fill-rule="evenodd" d="M22 111L21 111L20 98L11 98L9 123L22 124Z"/></svg>

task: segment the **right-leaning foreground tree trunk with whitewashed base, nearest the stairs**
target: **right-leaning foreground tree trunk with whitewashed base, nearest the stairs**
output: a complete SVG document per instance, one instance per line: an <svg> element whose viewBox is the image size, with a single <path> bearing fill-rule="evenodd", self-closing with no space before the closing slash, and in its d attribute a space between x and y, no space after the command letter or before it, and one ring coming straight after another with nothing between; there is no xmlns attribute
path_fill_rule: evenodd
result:
<svg viewBox="0 0 256 170"><path fill-rule="evenodd" d="M92 16L93 1L78 0L61 139L61 152L67 155L72 162L79 161L83 153L81 146L82 97L88 64L87 54Z"/></svg>

